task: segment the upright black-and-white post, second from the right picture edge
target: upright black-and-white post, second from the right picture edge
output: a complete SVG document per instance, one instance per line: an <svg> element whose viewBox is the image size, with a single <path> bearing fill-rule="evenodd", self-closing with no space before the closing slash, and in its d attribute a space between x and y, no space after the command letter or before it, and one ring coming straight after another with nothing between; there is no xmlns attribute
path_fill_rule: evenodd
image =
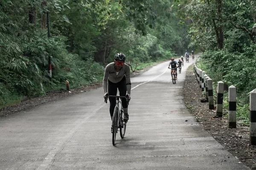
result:
<svg viewBox="0 0 256 170"><path fill-rule="evenodd" d="M228 88L228 126L236 128L236 87Z"/></svg>

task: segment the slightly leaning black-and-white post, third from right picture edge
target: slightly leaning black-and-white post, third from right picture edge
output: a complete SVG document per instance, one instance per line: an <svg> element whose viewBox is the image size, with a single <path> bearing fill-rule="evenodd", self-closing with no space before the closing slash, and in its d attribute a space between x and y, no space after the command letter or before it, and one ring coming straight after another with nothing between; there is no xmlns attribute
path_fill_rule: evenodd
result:
<svg viewBox="0 0 256 170"><path fill-rule="evenodd" d="M218 82L216 115L222 117L224 82Z"/></svg>

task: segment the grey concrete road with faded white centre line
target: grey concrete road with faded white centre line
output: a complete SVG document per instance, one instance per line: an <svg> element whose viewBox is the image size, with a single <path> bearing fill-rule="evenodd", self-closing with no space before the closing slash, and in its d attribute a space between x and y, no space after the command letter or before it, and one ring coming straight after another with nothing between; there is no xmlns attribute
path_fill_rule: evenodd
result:
<svg viewBox="0 0 256 170"><path fill-rule="evenodd" d="M248 169L186 110L180 93L192 61L175 85L168 64L132 78L130 119L116 146L102 88L1 119L0 170Z"/></svg>

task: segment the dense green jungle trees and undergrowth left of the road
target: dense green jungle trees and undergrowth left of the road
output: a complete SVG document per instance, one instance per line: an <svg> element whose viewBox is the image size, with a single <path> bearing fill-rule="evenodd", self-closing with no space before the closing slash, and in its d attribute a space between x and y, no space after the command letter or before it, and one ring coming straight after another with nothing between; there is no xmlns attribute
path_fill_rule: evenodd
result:
<svg viewBox="0 0 256 170"><path fill-rule="evenodd" d="M183 54L189 44L184 23L191 21L180 23L180 7L172 5L172 0L1 0L0 105L64 88L65 80L71 88L101 82L117 52L133 70Z"/></svg>

